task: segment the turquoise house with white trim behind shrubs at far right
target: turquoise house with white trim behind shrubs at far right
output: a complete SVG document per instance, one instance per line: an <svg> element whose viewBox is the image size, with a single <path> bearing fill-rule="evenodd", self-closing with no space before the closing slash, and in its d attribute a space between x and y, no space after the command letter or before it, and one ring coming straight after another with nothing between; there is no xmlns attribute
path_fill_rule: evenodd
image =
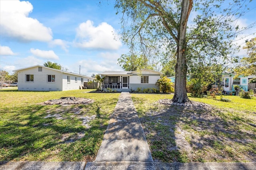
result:
<svg viewBox="0 0 256 170"><path fill-rule="evenodd" d="M234 73L222 73L221 78L217 81L218 84L224 85L226 92L234 91L234 85L240 86L243 90L248 91L248 82L251 78L256 76L243 76L240 75L238 78L234 78Z"/></svg>

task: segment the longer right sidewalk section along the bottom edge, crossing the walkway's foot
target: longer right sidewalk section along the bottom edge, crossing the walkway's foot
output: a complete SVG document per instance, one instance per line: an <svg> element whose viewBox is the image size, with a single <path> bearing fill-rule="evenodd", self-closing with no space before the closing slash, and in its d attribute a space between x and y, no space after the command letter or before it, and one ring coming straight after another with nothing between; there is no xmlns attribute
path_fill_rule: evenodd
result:
<svg viewBox="0 0 256 170"><path fill-rule="evenodd" d="M86 170L256 170L256 163L88 162Z"/></svg>

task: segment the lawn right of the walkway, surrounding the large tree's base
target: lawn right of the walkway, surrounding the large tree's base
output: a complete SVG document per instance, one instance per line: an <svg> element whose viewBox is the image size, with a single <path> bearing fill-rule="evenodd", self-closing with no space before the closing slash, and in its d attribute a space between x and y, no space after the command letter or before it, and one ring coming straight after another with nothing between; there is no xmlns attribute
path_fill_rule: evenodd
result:
<svg viewBox="0 0 256 170"><path fill-rule="evenodd" d="M256 97L190 98L210 107L158 103L172 97L132 94L154 162L256 161Z"/></svg>

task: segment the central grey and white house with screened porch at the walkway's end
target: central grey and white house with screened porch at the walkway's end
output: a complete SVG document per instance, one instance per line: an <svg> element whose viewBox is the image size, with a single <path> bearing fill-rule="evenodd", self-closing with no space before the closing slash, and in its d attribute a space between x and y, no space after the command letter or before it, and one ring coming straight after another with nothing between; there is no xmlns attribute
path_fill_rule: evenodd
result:
<svg viewBox="0 0 256 170"><path fill-rule="evenodd" d="M131 91L137 88L156 88L157 80L160 79L161 72L142 69L140 71L105 71L100 75L105 76L102 83L102 90L110 88L112 90L122 91L124 89Z"/></svg>

